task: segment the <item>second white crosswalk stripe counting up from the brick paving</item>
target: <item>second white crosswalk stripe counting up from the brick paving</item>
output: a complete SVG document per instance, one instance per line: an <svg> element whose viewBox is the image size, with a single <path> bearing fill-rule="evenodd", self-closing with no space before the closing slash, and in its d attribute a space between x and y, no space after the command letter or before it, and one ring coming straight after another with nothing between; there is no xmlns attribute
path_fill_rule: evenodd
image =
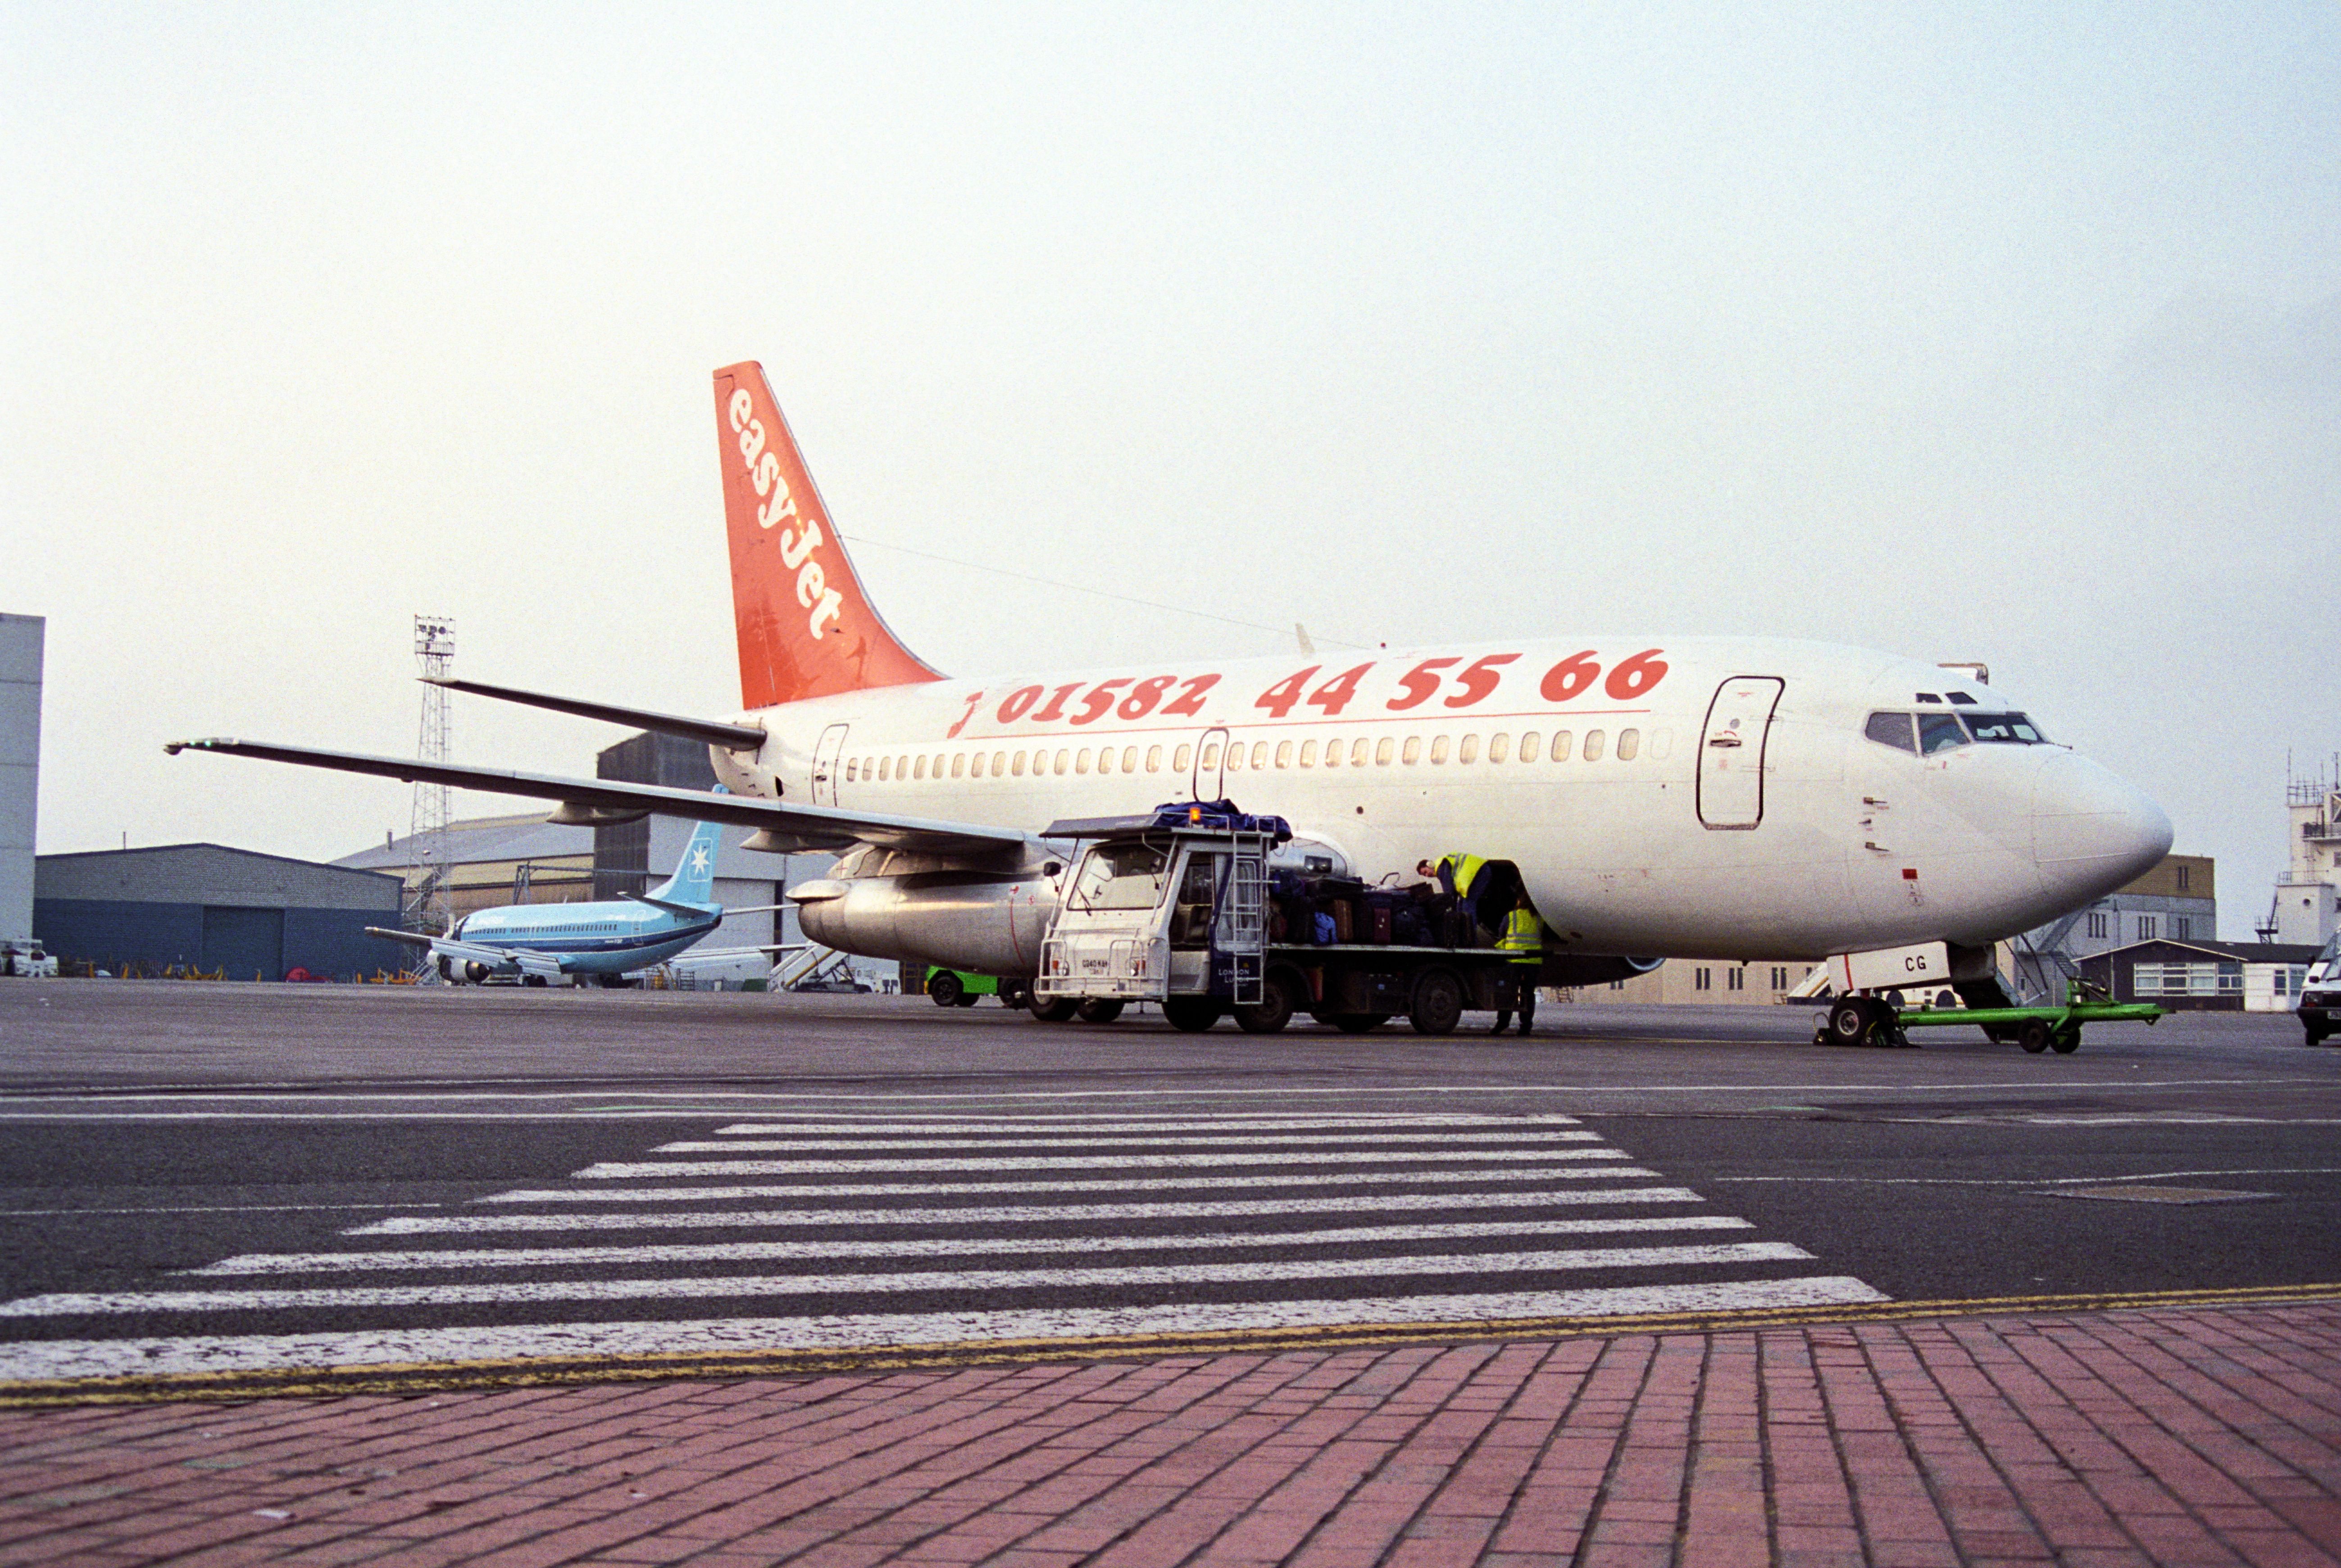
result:
<svg viewBox="0 0 2341 1568"><path fill-rule="evenodd" d="M536 1280L524 1285L351 1285L323 1290L59 1292L0 1301L0 1318L105 1313L262 1313L365 1306L541 1301L674 1301L688 1297L871 1297L915 1290L1096 1290L1100 1285L1255 1285L1262 1280L1379 1280L1419 1275L1545 1273L1559 1268L1681 1268L1812 1261L1786 1240L1707 1247L1568 1247L1451 1257L1259 1259L1248 1264L1131 1264L1121 1268L936 1268L920 1273L742 1273L679 1280Z"/></svg>

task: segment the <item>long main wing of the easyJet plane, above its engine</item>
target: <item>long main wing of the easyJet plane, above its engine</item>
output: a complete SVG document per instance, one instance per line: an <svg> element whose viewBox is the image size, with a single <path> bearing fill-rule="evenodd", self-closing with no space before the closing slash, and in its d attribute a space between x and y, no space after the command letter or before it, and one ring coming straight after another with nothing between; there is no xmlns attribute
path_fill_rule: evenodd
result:
<svg viewBox="0 0 2341 1568"><path fill-rule="evenodd" d="M787 805L754 796L670 789L663 784L620 784L616 779L562 779L545 772L508 772L503 768L456 768L424 763L412 756L368 756L363 751L321 751L314 747L279 747L262 740L173 740L164 751L218 751L222 756L258 756L269 763L368 772L377 779L407 784L449 784L485 789L499 796L534 796L583 807L583 812L637 812L723 821L742 828L768 828L798 840L801 850L845 850L857 843L927 854L1004 854L1030 843L1028 833L990 828L972 821L934 821L927 817L883 817L878 812L843 812L833 805Z"/></svg>

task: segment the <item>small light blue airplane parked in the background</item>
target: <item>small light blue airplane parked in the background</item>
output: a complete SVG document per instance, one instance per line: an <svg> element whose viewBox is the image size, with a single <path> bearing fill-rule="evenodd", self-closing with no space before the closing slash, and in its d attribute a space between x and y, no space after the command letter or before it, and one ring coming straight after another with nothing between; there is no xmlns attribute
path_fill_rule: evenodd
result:
<svg viewBox="0 0 2341 1568"><path fill-rule="evenodd" d="M674 875L646 894L595 903L503 903L464 915L445 936L384 927L368 927L368 934L431 948L449 981L548 985L595 976L602 985L623 985L623 976L667 962L723 924L723 906L709 896L716 831L714 821L693 824Z"/></svg>

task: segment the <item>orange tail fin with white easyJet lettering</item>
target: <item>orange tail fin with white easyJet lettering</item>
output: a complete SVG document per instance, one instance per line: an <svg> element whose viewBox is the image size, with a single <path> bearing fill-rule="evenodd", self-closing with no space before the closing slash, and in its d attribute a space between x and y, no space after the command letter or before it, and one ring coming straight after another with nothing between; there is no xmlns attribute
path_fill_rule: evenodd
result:
<svg viewBox="0 0 2341 1568"><path fill-rule="evenodd" d="M941 681L894 641L861 592L763 365L716 372L716 447L740 627L740 704Z"/></svg>

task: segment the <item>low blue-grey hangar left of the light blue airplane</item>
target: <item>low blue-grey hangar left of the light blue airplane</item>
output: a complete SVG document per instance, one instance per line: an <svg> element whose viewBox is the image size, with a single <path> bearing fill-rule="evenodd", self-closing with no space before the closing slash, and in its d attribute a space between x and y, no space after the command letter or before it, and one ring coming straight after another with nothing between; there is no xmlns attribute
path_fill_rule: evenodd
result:
<svg viewBox="0 0 2341 1568"><path fill-rule="evenodd" d="M33 929L68 974L194 967L229 981L330 981L405 969L407 950L368 936L398 924L400 880L227 845L42 854Z"/></svg>

